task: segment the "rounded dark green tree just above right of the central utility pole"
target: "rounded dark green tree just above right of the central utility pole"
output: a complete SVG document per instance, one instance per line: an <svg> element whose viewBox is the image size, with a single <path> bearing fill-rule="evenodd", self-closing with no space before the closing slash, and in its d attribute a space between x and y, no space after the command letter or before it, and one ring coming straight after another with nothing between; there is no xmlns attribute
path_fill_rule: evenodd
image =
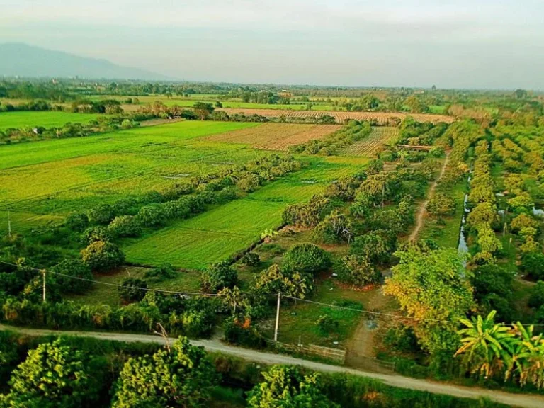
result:
<svg viewBox="0 0 544 408"><path fill-rule="evenodd" d="M283 256L283 268L287 271L316 273L331 266L331 258L327 251L314 244L297 244Z"/></svg>

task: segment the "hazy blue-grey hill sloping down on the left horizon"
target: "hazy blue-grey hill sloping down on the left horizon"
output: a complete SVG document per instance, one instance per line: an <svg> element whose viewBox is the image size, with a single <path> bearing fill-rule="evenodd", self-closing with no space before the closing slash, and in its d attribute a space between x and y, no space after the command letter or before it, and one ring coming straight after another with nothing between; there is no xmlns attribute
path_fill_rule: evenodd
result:
<svg viewBox="0 0 544 408"><path fill-rule="evenodd" d="M108 60L80 57L23 43L0 44L0 77L81 77L93 79L171 79Z"/></svg>

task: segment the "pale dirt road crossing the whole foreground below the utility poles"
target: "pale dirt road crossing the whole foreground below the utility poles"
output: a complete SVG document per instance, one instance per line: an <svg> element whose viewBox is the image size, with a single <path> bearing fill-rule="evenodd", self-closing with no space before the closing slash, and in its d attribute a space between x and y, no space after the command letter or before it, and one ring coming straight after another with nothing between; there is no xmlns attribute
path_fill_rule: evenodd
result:
<svg viewBox="0 0 544 408"><path fill-rule="evenodd" d="M143 342L143 343L162 343L163 339L159 336L149 336L145 334L125 334L125 333L99 333L94 331L55 331L55 330L40 330L40 329L23 329L19 327L9 327L0 324L0 330L16 331L29 336L44 336L44 335L69 335L69 336L86 336L94 337L95 339L127 341L127 342ZM171 339L174 341L175 339ZM485 390L478 387L461 387L458 385L448 385L443 382L435 382L430 380L417 380L416 378L402 377L401 375L388 375L378 373L368 373L362 370L353 370L352 368L340 367L337 365L327 365L323 363L315 363L314 361L306 361L300 358L285 356L283 354L263 353L262 351L249 350L247 348L239 348L227 346L215 340L196 340L191 341L195 346L204 346L208 351L218 351L220 353L229 354L239 358L244 358L249 361L255 361L263 364L289 364L302 365L311 370L322 371L327 373L348 373L351 375L361 375L363 377L374 378L381 380L386 385L392 387L407 388L409 390L419 390L432 392L434 394L452 395L453 397L478 399L486 397L495 402L511 405L514 407L526 408L541 408L544 407L544 397L540 395L528 394L511 394L509 392L500 392L497 390Z"/></svg>

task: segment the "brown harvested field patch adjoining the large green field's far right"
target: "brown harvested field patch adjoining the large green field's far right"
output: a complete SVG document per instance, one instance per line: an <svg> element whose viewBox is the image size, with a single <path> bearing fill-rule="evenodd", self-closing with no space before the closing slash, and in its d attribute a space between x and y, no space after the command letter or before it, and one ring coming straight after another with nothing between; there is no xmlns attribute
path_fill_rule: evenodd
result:
<svg viewBox="0 0 544 408"><path fill-rule="evenodd" d="M339 125L299 125L295 123L266 123L249 128L207 137L212 142L240 143L256 149L287 150L312 139L321 139L339 130Z"/></svg>

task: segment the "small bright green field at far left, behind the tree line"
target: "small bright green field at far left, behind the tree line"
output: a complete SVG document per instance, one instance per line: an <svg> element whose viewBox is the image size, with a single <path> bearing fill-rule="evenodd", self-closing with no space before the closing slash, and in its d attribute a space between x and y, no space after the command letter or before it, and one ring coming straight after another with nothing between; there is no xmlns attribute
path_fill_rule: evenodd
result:
<svg viewBox="0 0 544 408"><path fill-rule="evenodd" d="M0 113L0 130L9 128L31 128L42 126L43 128L55 128L72 123L89 123L99 118L99 114L69 113L69 112L2 112Z"/></svg>

